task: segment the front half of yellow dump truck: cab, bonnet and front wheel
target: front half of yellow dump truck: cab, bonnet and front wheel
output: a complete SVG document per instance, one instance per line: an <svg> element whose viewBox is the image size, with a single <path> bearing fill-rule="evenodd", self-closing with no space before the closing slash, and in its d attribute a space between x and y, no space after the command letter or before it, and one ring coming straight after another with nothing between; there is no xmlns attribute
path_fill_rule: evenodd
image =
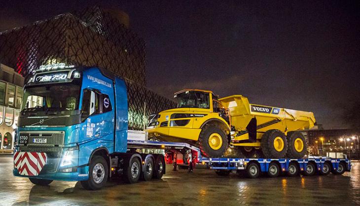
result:
<svg viewBox="0 0 360 206"><path fill-rule="evenodd" d="M230 126L218 97L208 90L183 89L174 98L177 108L149 117L149 137L187 142L199 146L207 156L222 155L229 144Z"/></svg>

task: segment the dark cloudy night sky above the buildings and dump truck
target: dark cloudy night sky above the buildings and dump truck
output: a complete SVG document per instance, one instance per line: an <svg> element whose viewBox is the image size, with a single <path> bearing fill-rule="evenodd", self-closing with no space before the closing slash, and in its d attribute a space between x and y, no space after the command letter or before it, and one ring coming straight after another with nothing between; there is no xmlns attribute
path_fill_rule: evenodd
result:
<svg viewBox="0 0 360 206"><path fill-rule="evenodd" d="M87 6L119 8L146 41L147 86L312 111L346 128L360 99L360 1L1 0L0 31ZM44 3L48 2L48 3Z"/></svg>

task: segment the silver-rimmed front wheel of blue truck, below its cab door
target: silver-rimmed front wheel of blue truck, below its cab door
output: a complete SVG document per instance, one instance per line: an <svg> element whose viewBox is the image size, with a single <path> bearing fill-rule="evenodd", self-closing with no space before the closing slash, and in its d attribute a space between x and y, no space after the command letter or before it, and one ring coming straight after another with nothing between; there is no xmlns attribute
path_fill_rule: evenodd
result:
<svg viewBox="0 0 360 206"><path fill-rule="evenodd" d="M87 190L99 190L108 181L108 163L102 156L95 156L90 161L89 179L81 181L81 185Z"/></svg>

